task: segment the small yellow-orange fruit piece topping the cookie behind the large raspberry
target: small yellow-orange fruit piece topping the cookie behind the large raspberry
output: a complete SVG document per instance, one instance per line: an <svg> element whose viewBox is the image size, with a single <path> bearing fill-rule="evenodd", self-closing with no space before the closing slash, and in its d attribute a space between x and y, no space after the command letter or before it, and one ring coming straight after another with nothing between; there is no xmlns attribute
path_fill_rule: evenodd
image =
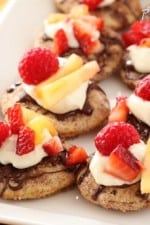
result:
<svg viewBox="0 0 150 225"><path fill-rule="evenodd" d="M70 11L70 17L78 19L89 14L88 6L84 4L74 6Z"/></svg>

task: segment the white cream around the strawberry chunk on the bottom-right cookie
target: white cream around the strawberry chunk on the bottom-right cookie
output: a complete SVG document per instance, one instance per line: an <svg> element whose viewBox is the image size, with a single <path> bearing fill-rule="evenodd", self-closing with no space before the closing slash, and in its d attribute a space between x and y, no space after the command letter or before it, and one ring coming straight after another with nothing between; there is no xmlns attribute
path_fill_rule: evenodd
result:
<svg viewBox="0 0 150 225"><path fill-rule="evenodd" d="M140 161L142 162L146 153L146 145L144 142L140 142L138 144L134 144L129 147L128 149L131 151L131 153ZM119 179L115 176L112 176L108 173L104 172L104 168L106 164L108 163L109 157L103 156L99 151L96 150L91 162L90 162L90 172L93 175L95 182L100 185L105 186L120 186L123 184L131 184L135 183L140 179L140 176L138 176L135 180L132 182L127 182L122 179Z"/></svg>

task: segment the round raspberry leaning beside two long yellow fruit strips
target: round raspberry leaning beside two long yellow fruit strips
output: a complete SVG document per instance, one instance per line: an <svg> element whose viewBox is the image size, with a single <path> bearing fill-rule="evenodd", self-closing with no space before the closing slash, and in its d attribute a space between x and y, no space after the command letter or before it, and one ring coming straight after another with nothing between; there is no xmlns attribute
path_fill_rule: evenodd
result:
<svg viewBox="0 0 150 225"><path fill-rule="evenodd" d="M59 67L56 55L49 49L33 48L19 63L19 73L24 83L39 84L53 75Z"/></svg>

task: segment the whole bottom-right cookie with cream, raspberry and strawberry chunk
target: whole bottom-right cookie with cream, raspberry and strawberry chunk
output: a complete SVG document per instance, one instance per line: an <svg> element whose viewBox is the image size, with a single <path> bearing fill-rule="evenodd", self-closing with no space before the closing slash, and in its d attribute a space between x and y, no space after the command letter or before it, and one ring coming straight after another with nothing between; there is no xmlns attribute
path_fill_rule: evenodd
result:
<svg viewBox="0 0 150 225"><path fill-rule="evenodd" d="M125 122L110 123L94 142L95 154L77 175L81 195L91 203L122 212L149 207L149 194L141 188L146 144L138 131Z"/></svg>

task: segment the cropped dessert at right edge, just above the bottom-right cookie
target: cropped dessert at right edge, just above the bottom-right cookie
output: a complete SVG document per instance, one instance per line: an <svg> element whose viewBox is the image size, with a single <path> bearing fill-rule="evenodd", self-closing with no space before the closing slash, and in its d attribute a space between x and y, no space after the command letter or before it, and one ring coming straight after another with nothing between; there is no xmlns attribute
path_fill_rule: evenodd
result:
<svg viewBox="0 0 150 225"><path fill-rule="evenodd" d="M129 97L117 97L109 122L128 122L146 143L150 137L150 75L140 80Z"/></svg>

